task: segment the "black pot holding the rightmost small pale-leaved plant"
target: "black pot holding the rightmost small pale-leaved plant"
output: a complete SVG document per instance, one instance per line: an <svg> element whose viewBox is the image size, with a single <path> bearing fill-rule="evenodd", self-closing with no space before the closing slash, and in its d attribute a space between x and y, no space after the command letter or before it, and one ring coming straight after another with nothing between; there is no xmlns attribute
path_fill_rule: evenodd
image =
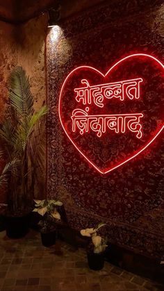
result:
<svg viewBox="0 0 164 291"><path fill-rule="evenodd" d="M87 253L88 265L90 269L99 271L104 267L104 253Z"/></svg>

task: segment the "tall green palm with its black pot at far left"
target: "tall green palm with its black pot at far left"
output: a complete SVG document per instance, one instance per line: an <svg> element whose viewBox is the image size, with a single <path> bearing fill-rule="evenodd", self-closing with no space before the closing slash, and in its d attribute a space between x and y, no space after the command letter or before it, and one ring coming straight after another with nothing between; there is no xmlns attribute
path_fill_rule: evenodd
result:
<svg viewBox="0 0 164 291"><path fill-rule="evenodd" d="M20 238L28 231L28 215L33 208L38 180L44 175L44 134L47 107L33 109L29 78L15 67L8 79L6 118L0 124L0 138L7 163L19 161L8 175L6 234Z"/></svg>

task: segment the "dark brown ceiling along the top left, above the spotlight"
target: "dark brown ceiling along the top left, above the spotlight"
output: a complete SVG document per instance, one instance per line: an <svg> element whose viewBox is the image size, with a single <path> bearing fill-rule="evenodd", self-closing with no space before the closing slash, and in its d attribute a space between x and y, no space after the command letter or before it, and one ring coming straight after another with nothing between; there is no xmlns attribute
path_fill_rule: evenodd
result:
<svg viewBox="0 0 164 291"><path fill-rule="evenodd" d="M0 20L19 24L60 3L61 18L69 17L104 0L0 0Z"/></svg>

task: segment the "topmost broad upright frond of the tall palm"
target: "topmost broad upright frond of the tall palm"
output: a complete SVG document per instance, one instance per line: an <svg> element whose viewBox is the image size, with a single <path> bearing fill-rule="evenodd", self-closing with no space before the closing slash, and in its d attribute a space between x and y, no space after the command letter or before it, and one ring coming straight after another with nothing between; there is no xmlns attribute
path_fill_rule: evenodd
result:
<svg viewBox="0 0 164 291"><path fill-rule="evenodd" d="M27 117L33 113L33 96L30 90L29 78L22 67L15 67L8 81L10 105L18 115Z"/></svg>

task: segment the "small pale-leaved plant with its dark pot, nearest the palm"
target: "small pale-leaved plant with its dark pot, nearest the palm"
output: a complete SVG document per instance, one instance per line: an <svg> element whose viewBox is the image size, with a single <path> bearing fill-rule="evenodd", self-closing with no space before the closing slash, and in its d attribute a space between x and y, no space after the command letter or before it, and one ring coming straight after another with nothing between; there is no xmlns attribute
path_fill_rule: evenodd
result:
<svg viewBox="0 0 164 291"><path fill-rule="evenodd" d="M42 244L44 247L51 247L56 243L56 222L60 220L58 206L62 206L63 203L47 199L34 201L35 208L33 211L42 216L39 222Z"/></svg>

